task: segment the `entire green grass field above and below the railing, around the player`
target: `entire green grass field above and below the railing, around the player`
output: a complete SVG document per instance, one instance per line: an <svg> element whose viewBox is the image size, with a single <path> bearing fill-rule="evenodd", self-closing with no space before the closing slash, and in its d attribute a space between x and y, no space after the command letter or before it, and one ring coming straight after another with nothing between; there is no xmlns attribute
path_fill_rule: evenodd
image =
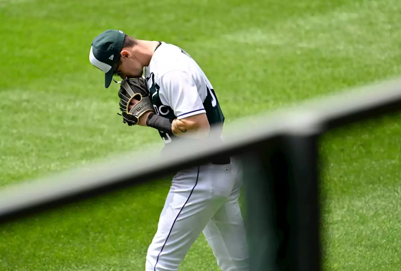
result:
<svg viewBox="0 0 401 271"><path fill-rule="evenodd" d="M117 116L89 63L97 34L176 44L227 122L401 74L398 0L0 0L0 185L162 147ZM379 90L378 90L379 91ZM325 270L401 266L399 116L322 139ZM144 270L170 180L0 227L0 270ZM201 236L180 270L218 270Z"/></svg>

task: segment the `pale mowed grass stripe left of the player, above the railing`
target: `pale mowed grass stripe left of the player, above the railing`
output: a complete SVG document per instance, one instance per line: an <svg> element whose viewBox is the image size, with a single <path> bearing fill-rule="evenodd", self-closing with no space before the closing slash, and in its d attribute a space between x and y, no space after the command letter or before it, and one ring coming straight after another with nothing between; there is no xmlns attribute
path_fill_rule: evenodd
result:
<svg viewBox="0 0 401 271"><path fill-rule="evenodd" d="M0 112L7 119L0 126L0 185L83 166L115 149L133 151L158 139L150 129L123 125L116 100L24 90L1 92ZM21 110L21 106L29 110ZM161 145L159 141L156 144Z"/></svg>

